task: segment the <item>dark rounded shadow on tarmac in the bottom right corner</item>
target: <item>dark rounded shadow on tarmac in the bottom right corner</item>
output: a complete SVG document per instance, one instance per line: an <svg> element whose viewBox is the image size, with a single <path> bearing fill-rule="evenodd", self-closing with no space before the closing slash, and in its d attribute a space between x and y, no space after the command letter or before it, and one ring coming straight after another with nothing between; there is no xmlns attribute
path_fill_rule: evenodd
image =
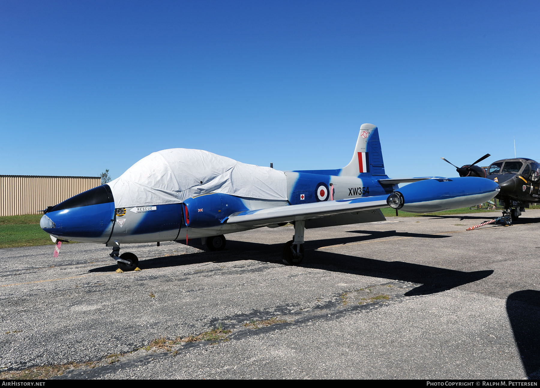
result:
<svg viewBox="0 0 540 388"><path fill-rule="evenodd" d="M531 379L540 378L540 291L517 291L507 298L508 319L514 331L523 369Z"/></svg>

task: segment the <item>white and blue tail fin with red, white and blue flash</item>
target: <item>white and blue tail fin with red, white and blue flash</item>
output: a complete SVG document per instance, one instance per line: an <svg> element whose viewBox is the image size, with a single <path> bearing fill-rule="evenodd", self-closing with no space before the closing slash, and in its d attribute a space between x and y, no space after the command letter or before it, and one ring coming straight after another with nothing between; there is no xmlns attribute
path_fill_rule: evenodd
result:
<svg viewBox="0 0 540 388"><path fill-rule="evenodd" d="M340 176L385 175L379 130L373 124L362 124L353 158L341 169Z"/></svg>

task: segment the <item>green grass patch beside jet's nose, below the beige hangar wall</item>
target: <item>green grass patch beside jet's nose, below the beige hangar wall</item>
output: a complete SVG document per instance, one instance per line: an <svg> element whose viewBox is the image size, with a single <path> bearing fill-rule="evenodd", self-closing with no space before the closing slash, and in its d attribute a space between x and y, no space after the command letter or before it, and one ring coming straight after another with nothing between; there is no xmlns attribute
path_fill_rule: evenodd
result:
<svg viewBox="0 0 540 388"><path fill-rule="evenodd" d="M0 248L53 245L50 236L39 228L40 214L0 217Z"/></svg>

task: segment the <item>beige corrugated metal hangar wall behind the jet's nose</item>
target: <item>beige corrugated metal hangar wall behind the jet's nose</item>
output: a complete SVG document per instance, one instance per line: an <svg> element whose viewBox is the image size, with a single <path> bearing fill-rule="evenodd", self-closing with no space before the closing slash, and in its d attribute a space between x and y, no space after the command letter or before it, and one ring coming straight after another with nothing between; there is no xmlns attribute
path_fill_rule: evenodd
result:
<svg viewBox="0 0 540 388"><path fill-rule="evenodd" d="M0 216L39 214L100 184L100 177L0 175Z"/></svg>

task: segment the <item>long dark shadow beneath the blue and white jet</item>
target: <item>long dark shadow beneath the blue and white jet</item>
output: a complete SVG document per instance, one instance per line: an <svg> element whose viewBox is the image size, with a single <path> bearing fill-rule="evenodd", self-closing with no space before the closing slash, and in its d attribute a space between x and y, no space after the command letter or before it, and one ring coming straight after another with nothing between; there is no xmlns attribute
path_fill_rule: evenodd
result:
<svg viewBox="0 0 540 388"><path fill-rule="evenodd" d="M368 234L368 236L353 236L342 238L330 238L321 240L311 240L305 243L306 251L309 251L306 259L301 263L301 267L323 269L353 275L378 277L384 279L402 280L410 283L420 283L421 285L405 293L406 296L428 295L431 293L447 291L467 283L490 276L494 271L474 271L464 272L428 265L411 264L406 262L386 262L383 260L370 259L365 257L343 255L326 251L318 251L320 247L328 245L340 245L353 242L361 242L382 237L422 237L422 238L447 238L444 235L429 235L421 233L407 232L374 232L374 231L352 231L356 233ZM181 266L189 264L203 264L208 262L235 262L238 260L258 260L267 263L281 263L282 243L261 244L251 242L241 242L228 240L227 248L221 252L194 252L184 255L155 257L140 261L143 269L163 268L170 266ZM116 265L107 265L91 269L89 272L113 272Z"/></svg>

